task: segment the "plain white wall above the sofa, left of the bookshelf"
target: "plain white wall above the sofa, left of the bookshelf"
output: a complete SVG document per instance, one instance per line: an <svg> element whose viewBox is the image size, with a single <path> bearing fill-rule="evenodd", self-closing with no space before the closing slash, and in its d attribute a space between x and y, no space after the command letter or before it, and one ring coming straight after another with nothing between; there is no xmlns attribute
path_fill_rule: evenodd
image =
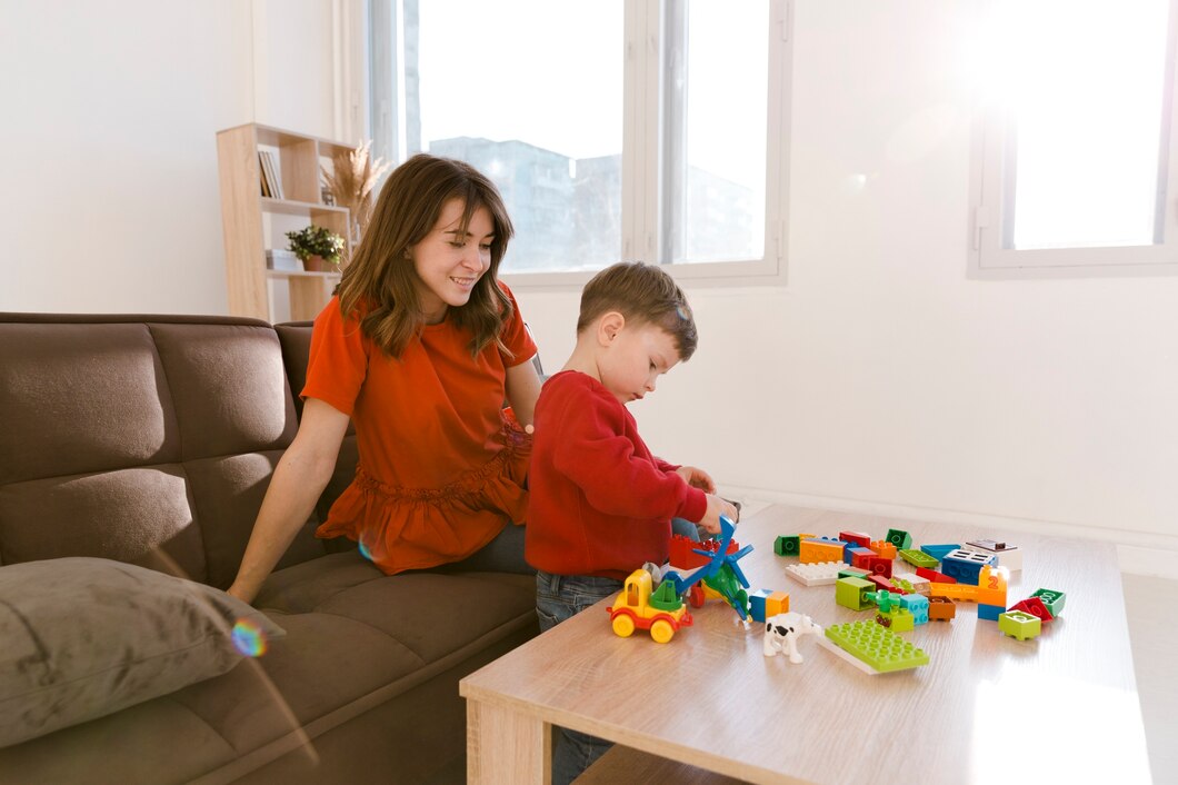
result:
<svg viewBox="0 0 1178 785"><path fill-rule="evenodd" d="M332 0L0 0L0 310L225 314L217 131L331 136Z"/></svg>

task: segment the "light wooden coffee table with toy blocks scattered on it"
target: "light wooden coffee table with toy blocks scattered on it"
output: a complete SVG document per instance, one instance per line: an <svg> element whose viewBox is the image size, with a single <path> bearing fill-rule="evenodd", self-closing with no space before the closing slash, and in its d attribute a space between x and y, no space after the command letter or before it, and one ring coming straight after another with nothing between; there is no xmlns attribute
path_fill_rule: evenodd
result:
<svg viewBox="0 0 1178 785"><path fill-rule="evenodd" d="M760 625L746 629L720 601L669 644L617 638L605 601L462 680L468 781L547 783L552 726L753 783L1150 781L1113 545L772 506L737 526L755 548L740 563L750 591L788 592L820 625L866 620L834 587L787 576L796 559L773 543L891 528L918 545L1018 545L1007 605L1048 588L1065 609L1019 641L960 602L953 621L902 633L929 665L869 675L809 636L805 662L767 658Z"/></svg>

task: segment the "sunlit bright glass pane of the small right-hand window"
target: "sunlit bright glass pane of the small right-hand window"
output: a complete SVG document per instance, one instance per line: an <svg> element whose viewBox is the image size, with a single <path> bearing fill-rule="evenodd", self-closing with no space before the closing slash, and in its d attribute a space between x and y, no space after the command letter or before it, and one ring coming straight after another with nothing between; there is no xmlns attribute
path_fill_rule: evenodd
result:
<svg viewBox="0 0 1178 785"><path fill-rule="evenodd" d="M1167 5L1001 5L1004 248L1162 242Z"/></svg>

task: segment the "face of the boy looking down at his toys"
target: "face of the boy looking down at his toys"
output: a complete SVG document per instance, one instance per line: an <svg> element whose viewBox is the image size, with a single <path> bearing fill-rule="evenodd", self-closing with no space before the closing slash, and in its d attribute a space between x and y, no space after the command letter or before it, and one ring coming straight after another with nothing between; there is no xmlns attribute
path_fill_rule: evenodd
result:
<svg viewBox="0 0 1178 785"><path fill-rule="evenodd" d="M622 405L654 392L655 380L679 362L675 339L654 324L623 324L603 341L597 362L601 383Z"/></svg>

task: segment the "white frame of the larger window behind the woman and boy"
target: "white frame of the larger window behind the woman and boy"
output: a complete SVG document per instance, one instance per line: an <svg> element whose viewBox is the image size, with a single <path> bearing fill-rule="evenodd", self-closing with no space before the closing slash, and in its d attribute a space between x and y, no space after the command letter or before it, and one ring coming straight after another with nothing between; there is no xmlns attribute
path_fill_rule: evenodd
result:
<svg viewBox="0 0 1178 785"><path fill-rule="evenodd" d="M676 0L624 0L624 87L622 144L622 248L620 260L657 262L666 242L661 232L659 184L662 163L659 157L660 139L664 131L667 94L662 85L663 55L660 12L663 2ZM382 54L382 46L373 37L372 51L384 62L399 57L397 41L397 0L370 0L383 5L384 11L370 14L391 28L391 51ZM789 248L789 112L793 67L793 0L769 0L770 25L768 35L768 95L766 114L766 193L765 193L765 251L753 260L667 263L666 269L682 282L715 285L750 285L786 283L786 262ZM388 79L372 78L376 108L373 118L373 150L389 159L404 158L404 101L398 85L392 84L388 95ZM379 91L382 95L376 93ZM398 104L401 106L398 107ZM390 117L395 114L395 117ZM605 264L610 260L603 260ZM570 272L504 272L503 279L512 289L581 289L593 271Z"/></svg>

